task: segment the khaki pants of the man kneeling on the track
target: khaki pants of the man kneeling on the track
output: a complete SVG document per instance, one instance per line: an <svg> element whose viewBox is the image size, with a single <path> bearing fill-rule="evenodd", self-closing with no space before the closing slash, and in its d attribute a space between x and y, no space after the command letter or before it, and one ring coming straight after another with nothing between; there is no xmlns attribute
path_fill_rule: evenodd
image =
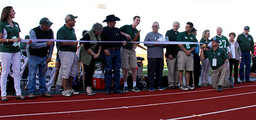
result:
<svg viewBox="0 0 256 120"><path fill-rule="evenodd" d="M222 85L222 88L230 86L229 79L229 68L220 67L216 70L211 71L212 87L218 88L218 85Z"/></svg>

